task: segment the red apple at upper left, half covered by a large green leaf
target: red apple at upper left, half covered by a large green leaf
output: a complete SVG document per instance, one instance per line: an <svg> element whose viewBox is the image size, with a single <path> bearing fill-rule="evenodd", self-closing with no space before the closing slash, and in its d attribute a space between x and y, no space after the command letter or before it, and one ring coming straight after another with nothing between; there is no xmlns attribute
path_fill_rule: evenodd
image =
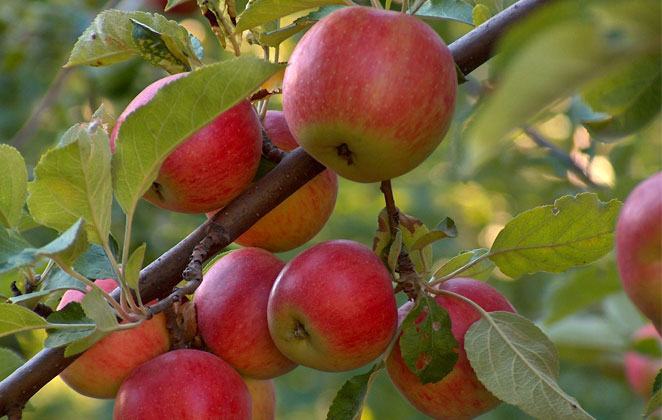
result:
<svg viewBox="0 0 662 420"><path fill-rule="evenodd" d="M110 134L113 151L126 117L147 104L164 85L184 74L157 80L129 103ZM261 154L260 120L251 103L243 100L180 144L163 162L144 198L161 208L182 213L216 210L250 184Z"/></svg>

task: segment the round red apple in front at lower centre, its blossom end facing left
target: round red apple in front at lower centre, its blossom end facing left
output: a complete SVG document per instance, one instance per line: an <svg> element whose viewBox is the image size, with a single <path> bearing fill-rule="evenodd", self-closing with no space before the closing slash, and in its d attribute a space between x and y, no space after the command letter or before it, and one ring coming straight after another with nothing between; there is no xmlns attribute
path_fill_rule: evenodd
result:
<svg viewBox="0 0 662 420"><path fill-rule="evenodd" d="M356 369L382 354L397 328L391 276L368 247L315 245L280 272L269 296L269 331L289 359L323 371Z"/></svg>

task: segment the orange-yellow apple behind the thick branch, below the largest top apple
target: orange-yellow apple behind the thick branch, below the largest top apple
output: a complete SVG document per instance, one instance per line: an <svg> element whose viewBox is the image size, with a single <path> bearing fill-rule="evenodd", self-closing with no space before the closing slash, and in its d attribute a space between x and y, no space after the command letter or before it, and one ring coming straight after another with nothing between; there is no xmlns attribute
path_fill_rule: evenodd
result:
<svg viewBox="0 0 662 420"><path fill-rule="evenodd" d="M263 125L278 148L290 151L299 147L282 111L267 111ZM235 242L271 252L297 248L324 227L333 212L337 196L338 176L327 169L267 213Z"/></svg>

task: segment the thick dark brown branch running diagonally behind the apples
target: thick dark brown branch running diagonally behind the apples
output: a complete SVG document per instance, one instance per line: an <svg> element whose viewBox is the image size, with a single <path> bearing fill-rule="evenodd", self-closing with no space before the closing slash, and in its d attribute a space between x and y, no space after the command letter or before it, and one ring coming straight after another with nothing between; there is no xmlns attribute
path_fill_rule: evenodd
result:
<svg viewBox="0 0 662 420"><path fill-rule="evenodd" d="M551 0L521 0L451 44L451 52L460 69L466 74L485 62L490 57L496 37L506 26L548 1ZM228 241L214 246L208 255L223 249L323 169L302 149L288 153L274 170L214 216L214 221L227 233ZM170 295L173 287L181 281L181 273L189 262L193 248L207 235L211 223L203 223L141 271L140 292L144 302ZM40 351L0 383L0 415L17 407L22 408L32 395L74 359L65 359L63 348Z"/></svg>

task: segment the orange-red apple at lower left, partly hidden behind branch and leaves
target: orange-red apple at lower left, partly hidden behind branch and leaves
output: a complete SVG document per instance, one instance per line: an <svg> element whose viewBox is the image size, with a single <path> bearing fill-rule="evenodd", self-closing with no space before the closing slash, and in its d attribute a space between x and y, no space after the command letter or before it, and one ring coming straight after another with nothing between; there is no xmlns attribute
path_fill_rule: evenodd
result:
<svg viewBox="0 0 662 420"><path fill-rule="evenodd" d="M95 283L106 292L117 287L113 279L99 279ZM77 290L68 290L57 309L70 302L80 302L84 296ZM170 338L165 315L158 314L136 328L105 336L63 370L60 377L72 389L88 397L113 398L134 368L165 353L168 348Z"/></svg>

